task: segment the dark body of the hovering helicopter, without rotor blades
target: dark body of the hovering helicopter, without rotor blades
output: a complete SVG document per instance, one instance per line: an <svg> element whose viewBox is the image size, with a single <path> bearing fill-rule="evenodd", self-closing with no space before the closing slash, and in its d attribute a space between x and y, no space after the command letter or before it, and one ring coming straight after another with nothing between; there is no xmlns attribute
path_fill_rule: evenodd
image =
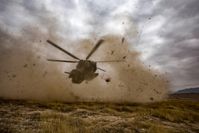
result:
<svg viewBox="0 0 199 133"><path fill-rule="evenodd" d="M80 60L76 66L76 69L73 69L69 78L72 78L73 83L81 83L82 81L92 80L98 76L98 73L95 73L97 70L97 63L90 60Z"/></svg>

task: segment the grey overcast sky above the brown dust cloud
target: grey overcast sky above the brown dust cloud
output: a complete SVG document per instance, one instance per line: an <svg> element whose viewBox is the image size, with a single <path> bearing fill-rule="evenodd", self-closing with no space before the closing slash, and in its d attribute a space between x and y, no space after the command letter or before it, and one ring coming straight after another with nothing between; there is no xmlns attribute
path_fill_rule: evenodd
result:
<svg viewBox="0 0 199 133"><path fill-rule="evenodd" d="M180 89L199 86L198 7L198 0L0 0L0 30L22 36L32 25L61 38L124 36Z"/></svg>

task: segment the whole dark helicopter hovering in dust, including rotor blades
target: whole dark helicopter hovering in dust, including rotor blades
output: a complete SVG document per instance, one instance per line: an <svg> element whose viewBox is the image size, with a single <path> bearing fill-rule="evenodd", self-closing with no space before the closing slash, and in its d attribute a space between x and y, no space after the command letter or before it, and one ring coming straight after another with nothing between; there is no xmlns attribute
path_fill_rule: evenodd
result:
<svg viewBox="0 0 199 133"><path fill-rule="evenodd" d="M97 67L97 63L107 63L107 62L121 62L123 60L110 60L110 61L92 61L89 60L89 58L93 55L93 53L100 47L100 45L104 42L103 39L100 39L97 41L95 46L92 48L90 53L87 55L86 59L80 59L77 56L73 55L72 53L66 51L65 49L61 48L54 42L47 40L49 44L54 46L55 48L59 49L60 51L64 52L65 54L69 55L75 60L59 60L59 59L47 59L47 61L52 62L64 62L64 63L77 63L76 68L73 69L71 72L65 72L66 74L69 74L69 78L72 79L72 83L80 84L84 80L90 81L94 78L96 78L99 73L96 73L96 70L104 71L104 69L101 69Z"/></svg>

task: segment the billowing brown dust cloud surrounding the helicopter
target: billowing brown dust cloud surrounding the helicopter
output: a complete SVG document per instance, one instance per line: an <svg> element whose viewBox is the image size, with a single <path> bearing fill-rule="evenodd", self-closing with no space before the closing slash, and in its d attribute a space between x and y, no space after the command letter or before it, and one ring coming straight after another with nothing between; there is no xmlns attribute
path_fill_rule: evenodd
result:
<svg viewBox="0 0 199 133"><path fill-rule="evenodd" d="M39 29L13 35L0 30L0 97L64 102L153 102L167 96L164 75L146 67L140 53L120 36L101 36L105 42L91 60L121 60L98 63L99 76L92 81L73 84L65 71L75 64L48 62L47 58L73 60L46 43L50 39L80 58L85 58L98 39L71 41ZM33 30L34 29L34 30ZM152 67L152 66L151 66Z"/></svg>

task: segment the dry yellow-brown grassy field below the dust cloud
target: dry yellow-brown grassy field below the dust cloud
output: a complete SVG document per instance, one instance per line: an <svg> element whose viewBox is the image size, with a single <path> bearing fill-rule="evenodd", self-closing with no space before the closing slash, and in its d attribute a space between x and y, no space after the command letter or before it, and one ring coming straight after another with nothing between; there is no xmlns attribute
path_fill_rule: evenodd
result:
<svg viewBox="0 0 199 133"><path fill-rule="evenodd" d="M197 133L199 102L151 104L0 100L1 133Z"/></svg>

